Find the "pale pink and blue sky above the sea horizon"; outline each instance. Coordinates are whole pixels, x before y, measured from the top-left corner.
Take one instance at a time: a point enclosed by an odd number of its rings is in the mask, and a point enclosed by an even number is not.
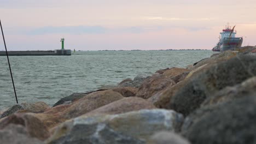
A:
[[[255,0],[0,0],[0,19],[8,50],[212,49],[227,22],[256,45]]]

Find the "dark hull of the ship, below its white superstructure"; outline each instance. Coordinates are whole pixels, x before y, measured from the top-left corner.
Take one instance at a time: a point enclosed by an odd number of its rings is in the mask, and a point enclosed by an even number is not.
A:
[[[243,38],[225,38],[220,45],[220,51],[235,51],[242,46]]]

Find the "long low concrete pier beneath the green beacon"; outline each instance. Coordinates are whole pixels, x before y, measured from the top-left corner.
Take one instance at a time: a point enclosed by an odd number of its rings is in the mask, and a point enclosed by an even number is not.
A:
[[[0,51],[0,56],[6,56],[6,52]],[[8,56],[71,56],[71,50],[8,51]]]

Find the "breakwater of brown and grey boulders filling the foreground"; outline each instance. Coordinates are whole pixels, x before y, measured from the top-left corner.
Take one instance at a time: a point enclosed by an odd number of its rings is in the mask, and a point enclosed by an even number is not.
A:
[[[256,47],[1,112],[1,143],[255,143]],[[14,137],[13,137],[14,136]]]

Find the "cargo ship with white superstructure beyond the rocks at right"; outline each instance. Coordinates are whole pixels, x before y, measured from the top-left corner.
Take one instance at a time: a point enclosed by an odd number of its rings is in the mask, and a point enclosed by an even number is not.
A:
[[[236,38],[235,26],[231,29],[228,25],[220,32],[219,42],[213,47],[212,51],[239,50],[243,43],[243,38]]]

